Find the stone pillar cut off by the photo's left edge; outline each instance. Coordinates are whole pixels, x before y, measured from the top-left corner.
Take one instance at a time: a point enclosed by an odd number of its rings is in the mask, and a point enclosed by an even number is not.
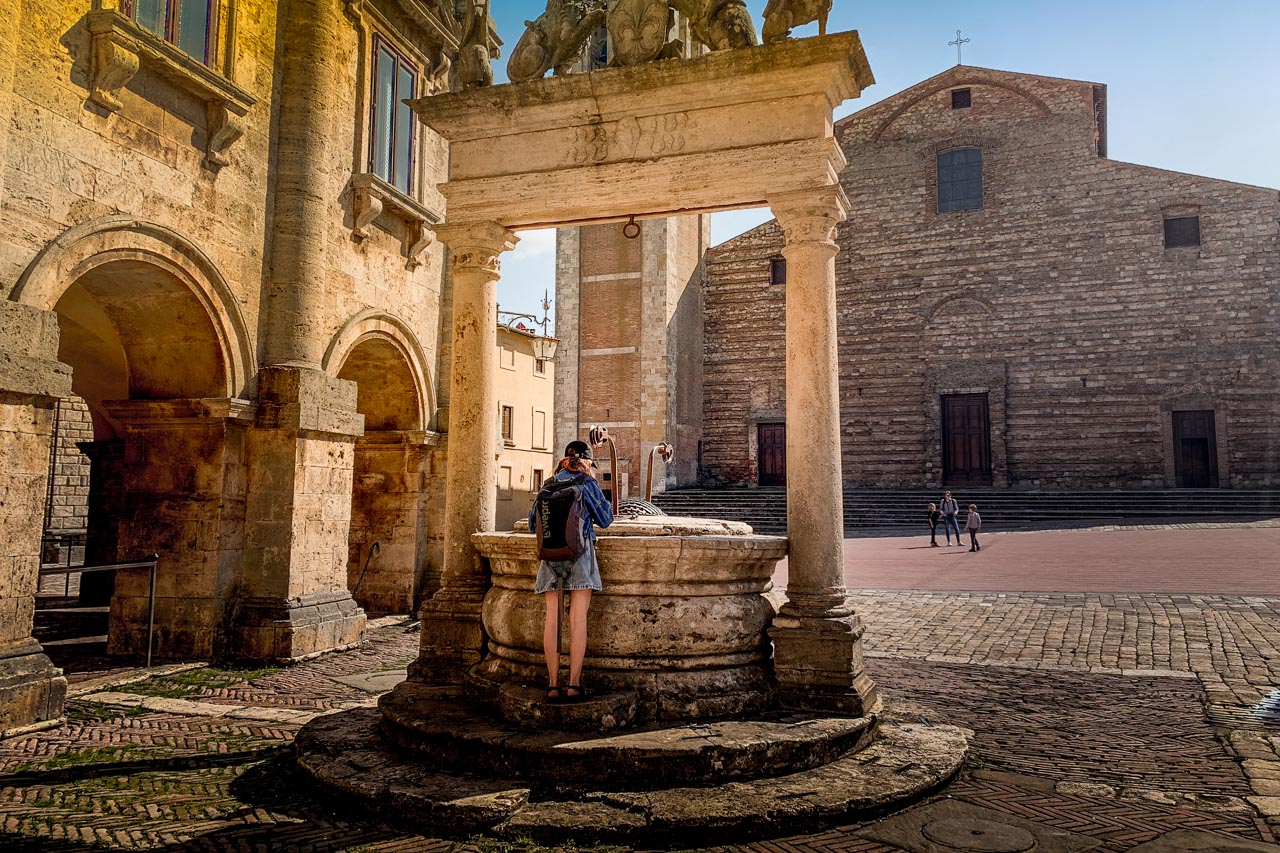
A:
[[[8,26],[8,24],[4,24]],[[3,45],[0,45],[3,46]],[[56,722],[67,679],[31,630],[54,406],[72,392],[58,318],[0,300],[0,736]]]

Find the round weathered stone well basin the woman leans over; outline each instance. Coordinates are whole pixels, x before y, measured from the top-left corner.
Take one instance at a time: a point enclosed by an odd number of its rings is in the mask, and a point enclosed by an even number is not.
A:
[[[521,525],[524,526],[524,525]],[[635,690],[637,721],[704,720],[769,704],[773,605],[764,593],[785,537],[737,521],[620,517],[596,530],[603,592],[588,611],[584,683]],[[544,684],[545,605],[534,594],[534,535],[477,533],[493,588],[484,601],[489,654],[468,676],[497,702],[503,684]],[[562,620],[568,649],[568,619]]]

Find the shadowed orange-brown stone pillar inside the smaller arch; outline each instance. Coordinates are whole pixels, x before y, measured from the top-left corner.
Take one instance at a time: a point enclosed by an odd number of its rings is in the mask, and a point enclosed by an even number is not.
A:
[[[422,502],[433,435],[385,429],[356,439],[347,587],[367,612],[413,612],[426,556]]]

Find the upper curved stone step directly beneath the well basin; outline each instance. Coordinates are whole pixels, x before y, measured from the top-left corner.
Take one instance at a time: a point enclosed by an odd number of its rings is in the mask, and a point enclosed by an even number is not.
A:
[[[442,767],[632,790],[818,767],[868,740],[873,722],[759,715],[746,722],[649,724],[621,734],[535,729],[507,722],[460,688],[411,681],[383,695],[379,710],[393,744]]]

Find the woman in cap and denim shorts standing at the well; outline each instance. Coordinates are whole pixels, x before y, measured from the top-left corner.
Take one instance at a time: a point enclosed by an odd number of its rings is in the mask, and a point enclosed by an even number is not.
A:
[[[557,465],[553,480],[572,480],[581,488],[582,542],[585,549],[576,560],[549,562],[538,566],[534,593],[544,596],[547,622],[543,626],[543,656],[547,658],[547,701],[581,702],[591,697],[582,686],[582,661],[586,657],[586,610],[591,593],[600,592],[600,564],[595,558],[595,526],[613,524],[613,508],[604,497],[600,484],[593,476],[595,460],[586,442],[572,441],[564,447],[564,459]],[[535,529],[538,502],[529,510],[529,529]],[[594,525],[594,526],[593,526]],[[570,594],[568,621],[568,684],[559,683],[559,607],[562,598],[557,583],[563,583]]]

